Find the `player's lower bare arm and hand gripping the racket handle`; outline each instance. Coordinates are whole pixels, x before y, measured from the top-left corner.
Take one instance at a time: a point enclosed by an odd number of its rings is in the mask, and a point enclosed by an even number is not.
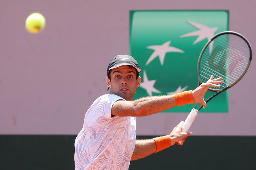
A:
[[[184,122],[180,122],[179,125],[177,125],[175,128],[173,128],[172,132],[169,134],[168,137],[170,137],[170,144],[167,146],[162,146],[162,148],[167,148],[169,146],[174,145],[176,142],[182,140],[182,143],[185,142],[185,138],[190,136],[192,132],[182,132],[182,125]],[[160,137],[161,138],[161,137]],[[157,139],[157,138],[154,138]],[[136,140],[135,143],[135,149],[133,151],[131,160],[138,160],[141,158],[144,158],[148,155],[151,155],[152,153],[155,153],[156,150],[161,150],[157,148],[156,141],[154,139],[145,139],[145,140]],[[161,143],[160,143],[161,144]],[[158,146],[160,145],[158,143]]]

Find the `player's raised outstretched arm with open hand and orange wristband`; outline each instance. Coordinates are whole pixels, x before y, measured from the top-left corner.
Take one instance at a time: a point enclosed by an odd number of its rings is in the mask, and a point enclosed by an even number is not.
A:
[[[186,91],[180,93],[182,95],[166,95],[166,96],[152,96],[144,97],[134,101],[116,101],[112,106],[111,115],[113,116],[147,116],[162,112],[175,106],[181,106],[180,101],[185,101],[183,104],[200,103],[206,107],[204,95],[208,87],[219,87],[222,77],[213,79],[213,75],[206,82],[201,84],[193,91]],[[178,96],[178,97],[177,97]],[[177,101],[176,101],[177,100]],[[179,100],[179,101],[178,101]],[[186,103],[187,101],[187,103]]]

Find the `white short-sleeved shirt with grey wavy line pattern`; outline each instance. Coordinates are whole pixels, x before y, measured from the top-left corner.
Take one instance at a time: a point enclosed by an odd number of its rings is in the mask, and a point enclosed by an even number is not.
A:
[[[135,148],[135,117],[111,117],[114,94],[96,99],[75,140],[76,170],[128,170]]]

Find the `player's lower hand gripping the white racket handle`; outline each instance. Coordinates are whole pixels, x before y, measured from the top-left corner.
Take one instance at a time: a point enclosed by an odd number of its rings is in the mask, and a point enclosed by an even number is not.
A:
[[[182,132],[182,126],[184,124],[184,121],[181,121],[179,125],[177,125],[175,128],[173,128],[172,132],[169,134],[171,137],[171,145],[174,145],[178,141],[182,141],[181,145],[185,142],[185,139],[192,135],[192,132]]]

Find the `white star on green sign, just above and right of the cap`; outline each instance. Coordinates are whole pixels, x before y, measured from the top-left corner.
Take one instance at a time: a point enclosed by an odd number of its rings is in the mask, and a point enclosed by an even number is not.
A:
[[[175,48],[175,47],[169,46],[170,43],[171,43],[171,41],[168,41],[168,42],[163,43],[162,45],[147,46],[147,48],[154,49],[155,51],[149,57],[148,61],[146,62],[146,65],[148,65],[157,56],[159,56],[161,65],[163,65],[165,54],[167,52],[182,52],[182,53],[184,52],[184,51],[182,51],[179,48]]]

